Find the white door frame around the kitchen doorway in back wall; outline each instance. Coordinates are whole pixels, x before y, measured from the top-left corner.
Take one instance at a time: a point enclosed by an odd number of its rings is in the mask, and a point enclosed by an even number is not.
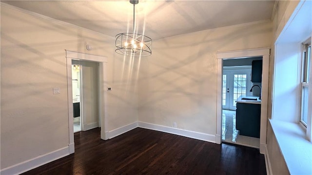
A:
[[[261,88],[261,117],[260,117],[260,153],[266,153],[267,120],[268,120],[268,91],[269,91],[269,58],[270,48],[258,48],[217,53],[217,110],[215,143],[222,142],[222,77],[223,59],[262,57],[262,88]]]

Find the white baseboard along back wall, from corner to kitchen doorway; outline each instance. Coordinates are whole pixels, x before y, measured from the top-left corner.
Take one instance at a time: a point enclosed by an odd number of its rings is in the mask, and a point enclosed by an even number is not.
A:
[[[155,131],[161,131],[164,133],[175,134],[175,135],[179,135],[179,136],[186,136],[186,137],[195,138],[198,140],[203,140],[203,141],[215,143],[215,135],[198,133],[198,132],[188,131],[188,130],[181,130],[178,128],[161,126],[161,125],[146,123],[146,122],[142,122],[142,121],[138,121],[138,127],[150,129],[150,130],[155,130]]]

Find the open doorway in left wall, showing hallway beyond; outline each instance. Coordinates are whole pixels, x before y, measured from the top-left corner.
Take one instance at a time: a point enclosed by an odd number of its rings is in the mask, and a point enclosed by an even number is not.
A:
[[[75,133],[100,127],[98,112],[99,63],[84,60],[72,60],[72,64]]]

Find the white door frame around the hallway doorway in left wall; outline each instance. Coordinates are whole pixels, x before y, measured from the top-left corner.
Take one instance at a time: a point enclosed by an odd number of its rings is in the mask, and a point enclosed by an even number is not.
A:
[[[94,61],[99,63],[98,69],[98,114],[101,127],[101,139],[106,140],[105,131],[107,129],[107,95],[105,89],[106,83],[106,71],[107,71],[107,58],[102,56],[78,53],[73,51],[66,52],[66,67],[67,67],[67,97],[68,97],[68,129],[69,129],[69,154],[75,153],[74,143],[74,123],[73,123],[73,87],[72,87],[72,59],[83,61]]]

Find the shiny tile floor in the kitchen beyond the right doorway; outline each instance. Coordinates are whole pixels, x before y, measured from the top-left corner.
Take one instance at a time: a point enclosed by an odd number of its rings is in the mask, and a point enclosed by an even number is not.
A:
[[[222,141],[259,148],[260,139],[240,136],[236,130],[236,111],[222,110]]]

